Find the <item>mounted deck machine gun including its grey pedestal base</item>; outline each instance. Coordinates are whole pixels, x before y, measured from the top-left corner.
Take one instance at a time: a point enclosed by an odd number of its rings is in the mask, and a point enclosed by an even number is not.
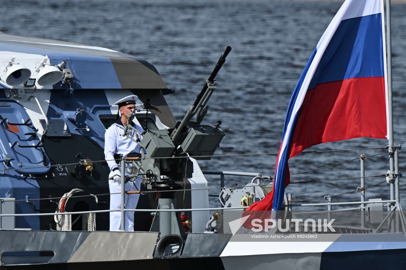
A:
[[[147,186],[147,190],[158,191],[158,209],[176,208],[175,191],[182,189],[181,182],[191,178],[193,173],[193,164],[188,155],[195,159],[210,159],[225,136],[220,128],[221,121],[218,121],[216,126],[201,125],[201,121],[207,113],[207,102],[216,89],[215,77],[230,51],[231,47],[228,46],[192,107],[172,132],[148,129],[141,133],[143,135],[141,140],[134,139],[127,134],[127,129],[133,129],[138,133],[140,131],[130,124],[135,117],[135,110],[130,114],[123,136],[136,141],[143,149],[140,161],[132,161],[136,167],[135,177],[145,176],[143,184]],[[192,120],[194,116],[196,118]],[[183,225],[179,222],[175,212],[155,214],[151,231],[160,231],[160,236],[166,234],[183,236]]]

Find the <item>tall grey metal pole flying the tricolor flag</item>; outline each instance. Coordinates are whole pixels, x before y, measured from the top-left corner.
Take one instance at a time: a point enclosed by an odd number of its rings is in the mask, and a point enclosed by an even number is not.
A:
[[[393,148],[393,110],[392,110],[392,40],[391,40],[391,0],[386,0],[386,33],[387,33],[387,71],[388,71],[388,131],[389,131],[389,170],[390,170],[390,188],[391,200],[395,199],[395,183],[394,183],[394,148]],[[397,191],[398,192],[398,191]],[[389,205],[388,205],[389,206]],[[393,209],[391,204],[390,209]],[[389,208],[389,207],[388,207]],[[395,223],[391,219],[391,232],[395,230]]]

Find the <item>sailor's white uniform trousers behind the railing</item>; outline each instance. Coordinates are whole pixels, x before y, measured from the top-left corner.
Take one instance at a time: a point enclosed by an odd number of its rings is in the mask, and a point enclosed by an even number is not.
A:
[[[128,173],[126,173],[128,175]],[[141,186],[141,179],[136,178],[134,180],[138,190]],[[114,180],[108,180],[108,186],[110,188],[110,193],[119,193],[110,195],[110,210],[121,209],[121,183],[115,182]],[[125,191],[136,191],[134,184],[128,181],[125,184]],[[124,208],[125,209],[135,209],[137,207],[139,194],[125,194]],[[134,231],[134,212],[126,211],[124,212],[124,223],[125,231]],[[121,212],[110,212],[110,231],[121,231]]]

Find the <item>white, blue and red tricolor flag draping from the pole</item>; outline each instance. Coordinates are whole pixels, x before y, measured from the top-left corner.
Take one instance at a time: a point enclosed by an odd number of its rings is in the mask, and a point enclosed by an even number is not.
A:
[[[343,3],[290,99],[273,189],[247,210],[281,209],[289,184],[288,159],[307,147],[356,137],[387,137],[384,32],[382,0]]]

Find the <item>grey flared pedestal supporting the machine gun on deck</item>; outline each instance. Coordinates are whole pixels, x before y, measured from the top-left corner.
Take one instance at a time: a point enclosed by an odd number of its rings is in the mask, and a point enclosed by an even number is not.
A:
[[[182,189],[181,184],[174,182],[154,184],[153,189],[158,191],[158,210],[176,209],[175,191]],[[177,234],[185,238],[185,230],[179,219],[179,215],[174,211],[155,212],[151,229],[149,231],[160,232],[160,238],[168,234]]]

